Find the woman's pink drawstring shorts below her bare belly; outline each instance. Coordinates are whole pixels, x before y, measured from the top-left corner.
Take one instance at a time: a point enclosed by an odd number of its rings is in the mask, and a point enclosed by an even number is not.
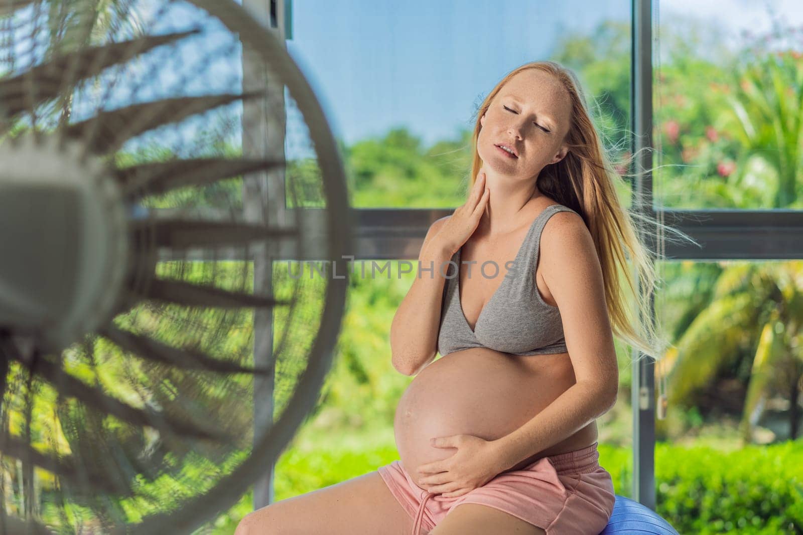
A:
[[[597,443],[574,452],[542,457],[520,470],[504,472],[471,492],[445,498],[410,479],[402,462],[379,467],[393,496],[415,519],[413,535],[434,529],[460,504],[480,504],[512,514],[552,533],[599,535],[613,514],[613,481],[599,465]],[[425,533],[426,533],[425,532]]]

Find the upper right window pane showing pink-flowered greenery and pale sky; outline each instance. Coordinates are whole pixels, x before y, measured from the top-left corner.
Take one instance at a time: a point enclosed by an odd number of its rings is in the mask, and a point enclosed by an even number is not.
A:
[[[656,204],[803,208],[803,4],[659,4]]]

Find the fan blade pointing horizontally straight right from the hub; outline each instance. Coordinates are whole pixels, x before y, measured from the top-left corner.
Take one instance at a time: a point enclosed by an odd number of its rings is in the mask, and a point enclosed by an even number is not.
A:
[[[173,249],[240,245],[296,235],[296,229],[266,228],[263,225],[230,221],[157,218],[132,221],[131,226],[134,232],[145,233],[150,244]]]

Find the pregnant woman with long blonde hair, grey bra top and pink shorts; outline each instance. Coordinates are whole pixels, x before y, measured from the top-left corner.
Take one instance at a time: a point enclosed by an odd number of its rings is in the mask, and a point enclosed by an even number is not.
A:
[[[391,325],[393,367],[415,375],[394,421],[400,460],[259,509],[236,535],[605,528],[614,494],[595,419],[616,402],[613,329],[656,354],[618,277],[634,289],[626,252],[647,286],[654,266],[571,71],[510,72],[473,141],[467,201],[426,233]]]

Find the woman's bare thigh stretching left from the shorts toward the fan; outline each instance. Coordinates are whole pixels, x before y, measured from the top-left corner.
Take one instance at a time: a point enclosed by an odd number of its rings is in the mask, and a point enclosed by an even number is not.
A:
[[[413,519],[379,472],[345,480],[249,513],[234,535],[409,535]]]

